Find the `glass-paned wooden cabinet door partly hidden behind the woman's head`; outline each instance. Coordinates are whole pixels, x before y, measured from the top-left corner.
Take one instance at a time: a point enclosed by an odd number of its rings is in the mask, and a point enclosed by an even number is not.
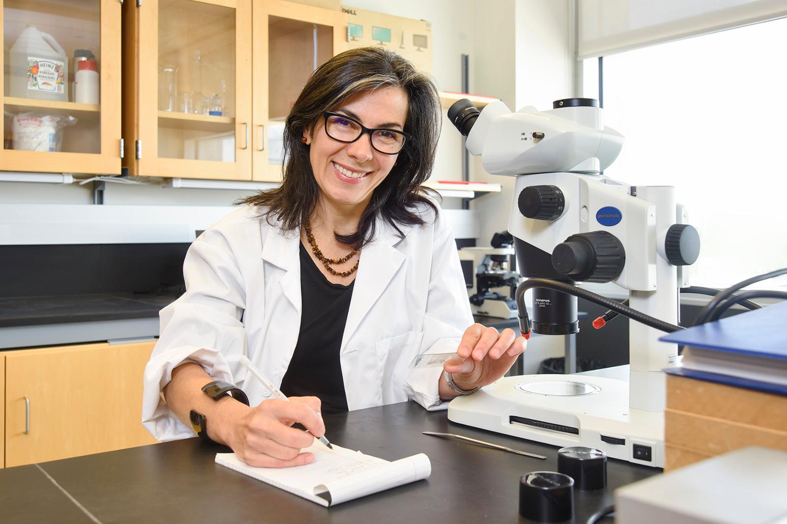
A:
[[[254,2],[254,180],[282,179],[282,134],[309,75],[347,49],[347,15],[284,0]]]

